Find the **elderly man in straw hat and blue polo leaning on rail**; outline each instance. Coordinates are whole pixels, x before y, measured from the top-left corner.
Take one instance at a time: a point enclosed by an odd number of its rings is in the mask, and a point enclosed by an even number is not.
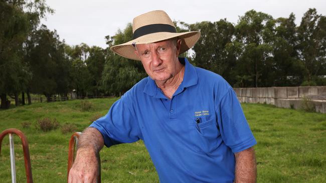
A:
[[[148,77],[84,130],[69,182],[95,182],[104,144],[139,139],[161,182],[256,181],[256,140],[232,87],[178,57],[199,37],[198,31],[177,33],[161,10],[133,19],[133,40],[111,50],[141,60]]]

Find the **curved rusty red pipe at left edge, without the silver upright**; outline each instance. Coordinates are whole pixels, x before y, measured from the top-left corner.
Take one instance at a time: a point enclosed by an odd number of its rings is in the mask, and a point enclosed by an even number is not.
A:
[[[21,138],[21,141],[23,144],[23,151],[24,151],[27,183],[33,183],[32,166],[31,166],[31,158],[30,158],[30,150],[28,147],[28,141],[27,141],[25,134],[21,130],[16,129],[16,128],[9,128],[9,129],[6,129],[3,132],[1,132],[1,134],[0,134],[0,155],[1,155],[2,140],[9,133],[15,133]]]

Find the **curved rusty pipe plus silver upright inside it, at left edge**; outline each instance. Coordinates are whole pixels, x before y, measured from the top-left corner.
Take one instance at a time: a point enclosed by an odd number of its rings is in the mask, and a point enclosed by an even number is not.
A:
[[[24,160],[25,160],[25,171],[26,171],[26,179],[27,183],[33,183],[33,176],[32,176],[32,166],[31,166],[31,158],[30,158],[30,150],[28,147],[28,141],[25,134],[16,128],[9,128],[1,132],[0,134],[0,155],[1,155],[1,146],[2,140],[4,137],[9,134],[9,141],[10,141],[10,162],[11,162],[11,171],[12,171],[12,182],[16,183],[16,165],[15,165],[15,149],[14,149],[14,136],[13,134],[18,135],[21,138],[23,144],[23,151],[24,151]]]

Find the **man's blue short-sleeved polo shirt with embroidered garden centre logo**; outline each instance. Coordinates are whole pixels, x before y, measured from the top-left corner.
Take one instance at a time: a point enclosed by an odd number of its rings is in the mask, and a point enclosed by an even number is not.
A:
[[[233,182],[234,153],[256,144],[240,103],[220,75],[179,60],[172,99],[148,76],[90,126],[107,147],[142,139],[161,182]]]

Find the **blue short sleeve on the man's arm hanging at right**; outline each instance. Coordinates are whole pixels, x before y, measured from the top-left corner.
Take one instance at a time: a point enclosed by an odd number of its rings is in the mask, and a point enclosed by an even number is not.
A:
[[[232,87],[229,87],[227,93],[216,102],[216,115],[221,136],[232,152],[240,152],[255,145],[256,139]]]

